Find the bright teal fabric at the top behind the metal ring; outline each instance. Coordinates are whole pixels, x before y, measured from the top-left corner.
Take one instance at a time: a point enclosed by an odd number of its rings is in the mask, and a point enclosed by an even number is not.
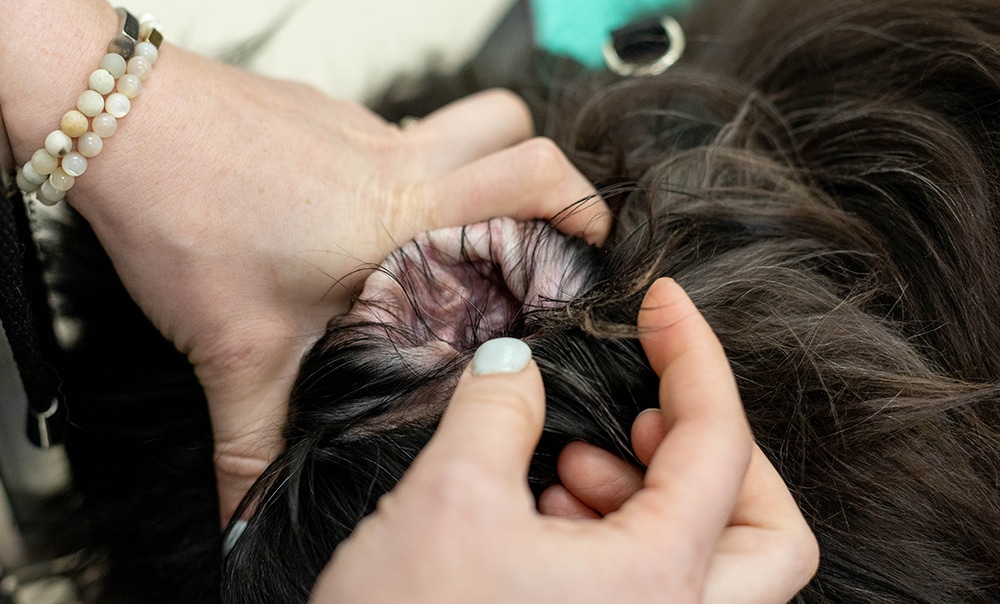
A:
[[[692,0],[532,0],[535,41],[589,67],[604,65],[601,50],[612,31],[649,13],[679,12]]]

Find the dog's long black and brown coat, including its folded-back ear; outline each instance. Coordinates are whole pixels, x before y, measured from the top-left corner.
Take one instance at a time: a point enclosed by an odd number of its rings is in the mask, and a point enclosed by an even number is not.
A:
[[[1000,7],[720,2],[682,23],[688,54],[661,76],[555,62],[531,97],[614,208],[603,250],[520,227],[553,273],[470,257],[468,233],[457,264],[420,240],[383,269],[392,293],[333,319],[246,501],[226,601],[308,598],[486,339],[522,338],[542,370],[536,489],[570,440],[629,458],[657,403],[634,322],[665,275],[819,538],[799,601],[1000,601]]]

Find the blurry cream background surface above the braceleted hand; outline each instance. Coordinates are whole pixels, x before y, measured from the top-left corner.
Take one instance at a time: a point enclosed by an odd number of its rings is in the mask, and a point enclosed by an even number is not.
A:
[[[513,0],[141,0],[167,38],[202,54],[294,14],[255,61],[255,70],[361,99],[400,70],[431,56],[459,62],[474,51]]]

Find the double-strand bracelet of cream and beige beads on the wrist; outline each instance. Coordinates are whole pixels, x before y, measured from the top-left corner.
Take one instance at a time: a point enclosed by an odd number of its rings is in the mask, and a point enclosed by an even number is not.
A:
[[[121,32],[90,74],[89,89],[77,99],[76,109],[63,115],[59,130],[50,132],[45,146],[17,172],[21,191],[35,193],[46,205],[59,203],[76,177],[87,170],[87,160],[101,152],[104,139],[115,133],[118,120],[128,114],[159,56],[163,36],[156,19],[151,15],[136,19],[124,8],[115,10]]]

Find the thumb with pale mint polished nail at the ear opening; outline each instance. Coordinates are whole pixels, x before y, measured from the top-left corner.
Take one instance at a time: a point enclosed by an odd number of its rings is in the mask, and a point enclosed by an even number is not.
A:
[[[545,420],[545,389],[528,345],[497,338],[479,347],[421,453],[425,467],[472,462],[505,484],[524,482]]]

